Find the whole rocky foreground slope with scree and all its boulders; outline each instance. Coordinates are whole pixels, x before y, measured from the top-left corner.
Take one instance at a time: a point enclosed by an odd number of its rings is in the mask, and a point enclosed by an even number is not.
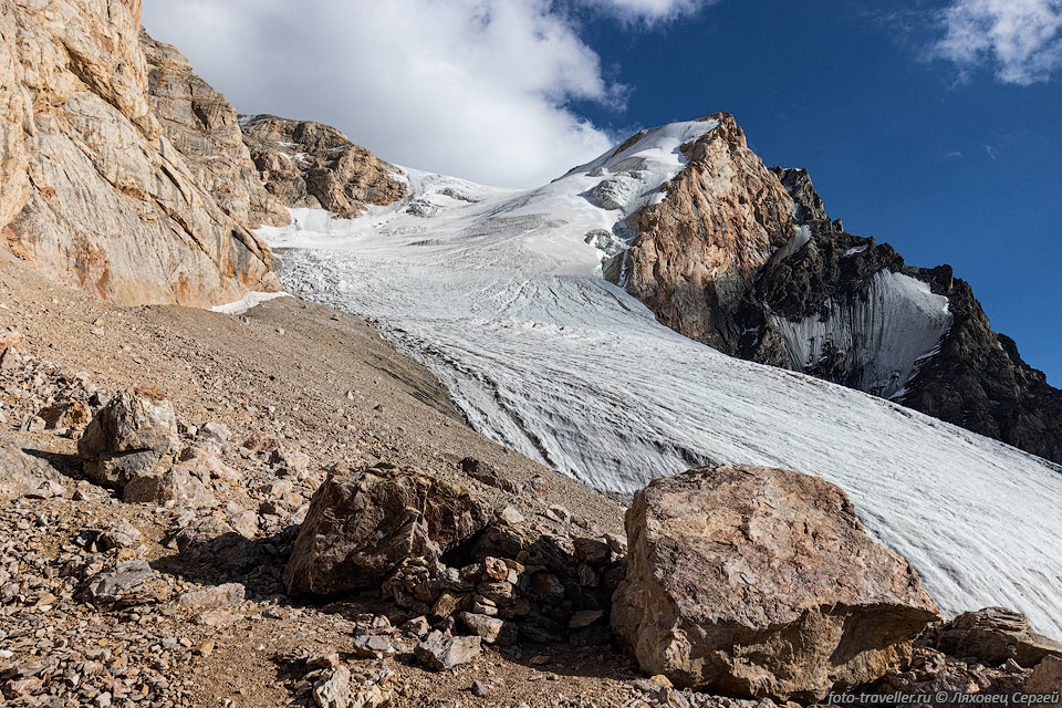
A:
[[[10,261],[0,285],[9,705],[1059,688],[1062,646],[999,608],[938,622],[815,478],[693,470],[639,492],[624,530],[347,315],[122,310]]]

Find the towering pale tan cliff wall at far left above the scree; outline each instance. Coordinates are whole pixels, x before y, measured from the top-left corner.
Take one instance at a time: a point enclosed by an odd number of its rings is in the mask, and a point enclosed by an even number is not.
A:
[[[280,214],[202,164],[217,149],[239,171],[231,108],[146,41],[149,65],[139,33],[138,0],[0,3],[0,244],[124,304],[279,288],[249,228]]]

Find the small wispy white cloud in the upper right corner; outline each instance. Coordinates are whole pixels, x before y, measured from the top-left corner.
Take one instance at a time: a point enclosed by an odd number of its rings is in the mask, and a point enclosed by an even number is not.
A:
[[[999,81],[1027,86],[1062,69],[1062,0],[956,0],[941,18],[934,53],[964,75],[991,64]]]

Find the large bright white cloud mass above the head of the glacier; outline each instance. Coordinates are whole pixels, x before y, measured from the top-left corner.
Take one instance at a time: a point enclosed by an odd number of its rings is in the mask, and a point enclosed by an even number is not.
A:
[[[549,0],[146,0],[144,24],[240,112],[487,184],[541,184],[607,149],[568,104],[623,95]]]

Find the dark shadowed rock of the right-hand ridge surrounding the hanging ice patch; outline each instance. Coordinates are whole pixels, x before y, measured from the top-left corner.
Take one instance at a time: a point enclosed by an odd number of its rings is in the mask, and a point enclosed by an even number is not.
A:
[[[792,171],[782,170],[783,179]],[[802,205],[800,209],[812,211],[818,195],[811,180],[804,179],[799,188],[794,196]],[[1022,361],[1013,340],[992,331],[969,284],[955,278],[949,266],[908,267],[887,243],[840,231],[836,223],[825,218],[804,221],[814,238],[761,270],[739,309],[738,320],[751,334],[735,353],[858,388],[852,352],[837,351],[815,362],[793,361],[779,345],[770,315],[790,321],[816,317],[827,301],[865,299],[875,275],[900,273],[926,283],[935,295],[946,299],[951,323],[892,399],[1062,461],[1062,392]]]

